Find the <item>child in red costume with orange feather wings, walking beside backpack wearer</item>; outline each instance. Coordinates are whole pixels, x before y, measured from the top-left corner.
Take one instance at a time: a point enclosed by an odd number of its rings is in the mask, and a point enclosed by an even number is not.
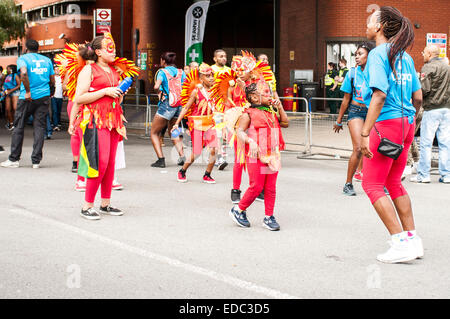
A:
[[[211,172],[216,161],[217,133],[214,129],[213,112],[215,103],[210,97],[211,87],[214,84],[214,73],[212,68],[206,63],[202,63],[198,69],[189,73],[183,84],[181,92],[181,103],[183,110],[175,122],[172,132],[178,129],[182,119],[188,117],[188,126],[192,139],[191,158],[184,163],[178,172],[177,180],[187,182],[186,170],[192,165],[194,160],[202,154],[205,146],[211,149],[208,166],[206,167],[203,182],[215,184],[216,181],[211,177]]]

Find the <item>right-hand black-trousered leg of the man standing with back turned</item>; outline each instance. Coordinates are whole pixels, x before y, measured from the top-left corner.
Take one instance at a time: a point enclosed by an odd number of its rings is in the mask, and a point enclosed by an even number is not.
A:
[[[32,101],[35,108],[33,128],[34,128],[34,143],[33,153],[31,154],[31,161],[33,164],[39,164],[42,160],[42,148],[44,147],[44,136],[46,129],[46,116],[48,116],[48,109],[50,107],[50,98],[44,97]]]

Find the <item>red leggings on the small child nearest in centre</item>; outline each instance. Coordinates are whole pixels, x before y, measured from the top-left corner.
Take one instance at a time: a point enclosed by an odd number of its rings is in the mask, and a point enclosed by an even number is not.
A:
[[[248,177],[250,179],[250,187],[239,202],[239,208],[246,210],[264,190],[264,206],[266,216],[273,215],[275,207],[276,185],[278,172],[272,171],[267,164],[262,163],[259,159],[256,161],[247,161]]]

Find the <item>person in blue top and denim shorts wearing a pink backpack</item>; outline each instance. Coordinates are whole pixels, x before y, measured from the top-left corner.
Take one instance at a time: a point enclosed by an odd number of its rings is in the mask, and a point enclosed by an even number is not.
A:
[[[180,99],[181,86],[186,78],[183,70],[177,69],[175,66],[177,55],[174,52],[165,52],[161,55],[161,66],[156,73],[156,81],[154,89],[159,91],[158,111],[152,121],[150,130],[150,139],[152,140],[153,148],[158,156],[158,159],[153,163],[152,167],[166,167],[164,154],[161,147],[161,132],[167,127],[168,131],[172,130],[173,125],[178,119],[181,112],[181,102],[171,106],[170,96],[175,100]],[[177,79],[178,78],[178,79]],[[169,85],[169,80],[173,82]],[[178,165],[184,165],[186,158],[183,152],[183,143],[180,137],[172,138],[172,142],[178,151],[179,159]]]

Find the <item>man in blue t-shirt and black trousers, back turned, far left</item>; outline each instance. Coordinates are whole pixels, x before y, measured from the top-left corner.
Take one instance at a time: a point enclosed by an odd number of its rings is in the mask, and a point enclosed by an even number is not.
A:
[[[38,54],[39,44],[29,39],[26,44],[26,54],[17,59],[20,70],[20,95],[14,117],[14,131],[11,137],[11,154],[3,167],[19,167],[22,155],[25,122],[33,115],[34,143],[31,162],[33,168],[39,168],[42,160],[42,148],[47,126],[46,116],[50,106],[50,86],[54,88],[55,77],[52,61]]]

